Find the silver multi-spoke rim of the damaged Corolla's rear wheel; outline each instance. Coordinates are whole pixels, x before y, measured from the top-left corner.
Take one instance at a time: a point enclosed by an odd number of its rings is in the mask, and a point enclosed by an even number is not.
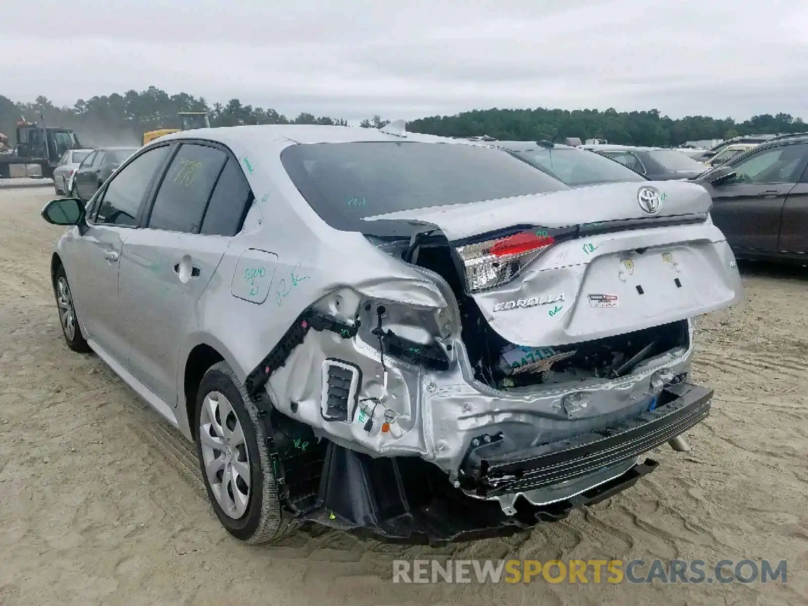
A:
[[[204,473],[219,507],[238,520],[250,503],[250,454],[242,424],[224,393],[204,398],[200,414],[200,446]]]

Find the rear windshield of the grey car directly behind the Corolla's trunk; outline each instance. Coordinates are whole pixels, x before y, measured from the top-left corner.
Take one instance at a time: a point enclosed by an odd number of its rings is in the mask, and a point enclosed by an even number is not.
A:
[[[540,148],[515,154],[572,186],[646,180],[620,162],[583,149]]]

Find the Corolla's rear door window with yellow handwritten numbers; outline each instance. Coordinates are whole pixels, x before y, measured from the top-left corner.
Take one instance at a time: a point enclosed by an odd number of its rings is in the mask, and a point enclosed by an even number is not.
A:
[[[204,209],[226,160],[225,153],[214,147],[182,145],[154,199],[149,228],[199,234]]]

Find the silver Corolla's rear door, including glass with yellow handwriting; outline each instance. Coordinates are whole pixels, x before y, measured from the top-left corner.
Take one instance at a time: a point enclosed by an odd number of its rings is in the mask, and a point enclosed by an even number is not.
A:
[[[184,327],[241,229],[249,200],[250,187],[229,152],[183,143],[162,176],[145,228],[123,247],[120,298],[129,365],[170,406],[177,403]]]

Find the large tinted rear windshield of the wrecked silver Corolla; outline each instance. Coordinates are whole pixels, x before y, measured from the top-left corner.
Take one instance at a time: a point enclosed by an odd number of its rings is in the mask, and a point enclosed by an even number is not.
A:
[[[317,143],[292,145],[280,159],[323,221],[380,236],[402,232],[363,217],[569,189],[506,152],[476,145]]]

